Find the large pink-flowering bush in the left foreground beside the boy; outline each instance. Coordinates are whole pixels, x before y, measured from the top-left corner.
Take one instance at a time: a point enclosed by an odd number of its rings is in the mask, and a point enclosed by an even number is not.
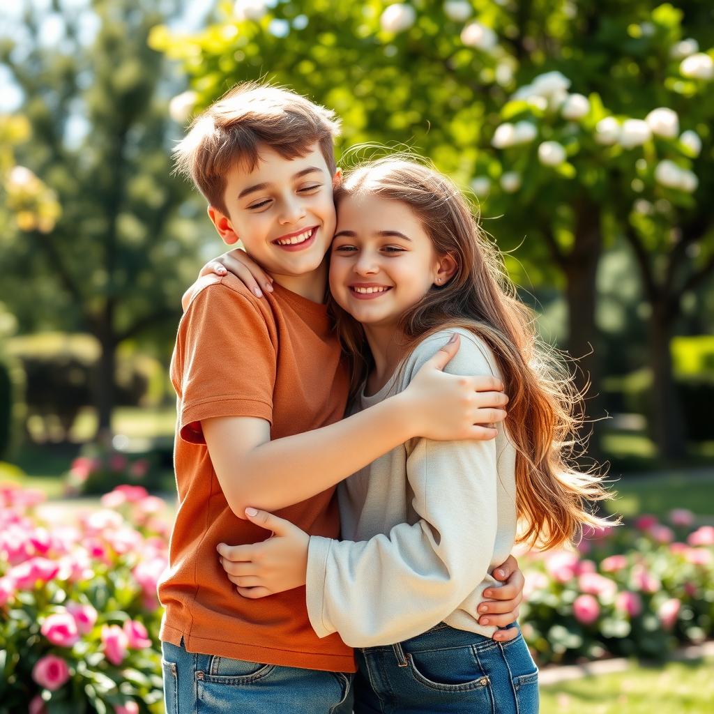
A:
[[[43,498],[0,486],[0,710],[163,712],[163,501],[119,486],[50,526],[34,513]]]

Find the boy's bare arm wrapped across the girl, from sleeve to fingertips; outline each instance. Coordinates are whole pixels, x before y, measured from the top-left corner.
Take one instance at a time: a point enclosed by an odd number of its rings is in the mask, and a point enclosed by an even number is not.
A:
[[[304,501],[414,436],[443,441],[496,436],[495,428],[475,425],[506,417],[492,408],[508,401],[495,393],[501,380],[444,374],[441,370],[458,346],[456,336],[398,395],[313,431],[271,441],[270,425],[261,418],[201,420],[213,468],[233,513],[245,518],[247,506],[276,511]]]

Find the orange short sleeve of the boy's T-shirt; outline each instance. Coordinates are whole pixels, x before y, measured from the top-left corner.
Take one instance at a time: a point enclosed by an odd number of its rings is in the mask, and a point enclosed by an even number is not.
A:
[[[223,283],[193,296],[174,356],[181,438],[205,443],[201,420],[217,416],[272,423],[276,346],[270,327],[258,306]]]

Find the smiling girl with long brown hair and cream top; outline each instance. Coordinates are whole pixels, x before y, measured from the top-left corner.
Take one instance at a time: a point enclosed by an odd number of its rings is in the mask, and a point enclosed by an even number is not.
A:
[[[306,584],[318,635],[361,648],[356,714],[534,713],[538,673],[523,638],[498,643],[473,613],[515,542],[552,548],[603,525],[586,508],[606,496],[600,478],[568,463],[578,395],[448,178],[381,159],[353,171],[336,201],[330,288],[353,356],[353,409],[406,388],[456,332],[447,370],[500,376],[507,428],[493,441],[413,439],[348,478],[342,541],[248,509],[273,538],[219,545],[223,568],[248,598]]]

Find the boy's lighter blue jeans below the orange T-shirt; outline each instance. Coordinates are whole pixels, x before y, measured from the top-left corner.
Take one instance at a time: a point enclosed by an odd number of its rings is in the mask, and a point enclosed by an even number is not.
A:
[[[166,714],[349,714],[353,675],[264,665],[161,643]]]

